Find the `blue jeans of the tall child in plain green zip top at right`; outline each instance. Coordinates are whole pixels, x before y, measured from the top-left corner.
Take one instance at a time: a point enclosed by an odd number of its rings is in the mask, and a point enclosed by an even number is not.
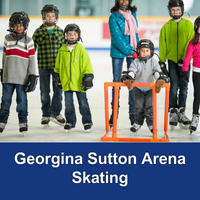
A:
[[[180,75],[177,70],[177,63],[168,60],[168,67],[170,77],[169,108],[185,108],[188,85],[187,87],[184,87],[181,83]],[[190,65],[188,70],[188,77],[190,77]]]

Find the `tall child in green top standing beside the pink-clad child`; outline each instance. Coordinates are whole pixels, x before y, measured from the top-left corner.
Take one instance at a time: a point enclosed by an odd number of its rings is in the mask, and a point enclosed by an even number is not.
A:
[[[182,0],[170,0],[168,9],[172,19],[160,31],[159,54],[161,68],[166,68],[165,61],[168,60],[170,77],[169,124],[174,130],[178,122],[181,128],[188,128],[190,124],[190,120],[185,115],[188,84],[184,86],[180,81],[180,76],[187,46],[194,32],[192,23],[182,18],[184,13]]]

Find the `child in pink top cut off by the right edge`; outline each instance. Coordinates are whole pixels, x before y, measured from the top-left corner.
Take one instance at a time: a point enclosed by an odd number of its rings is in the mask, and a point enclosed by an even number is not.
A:
[[[199,104],[200,104],[200,16],[194,22],[194,38],[189,42],[186,56],[183,62],[183,72],[181,81],[183,85],[187,85],[188,78],[188,65],[190,64],[191,57],[193,56],[193,85],[194,85],[194,101],[193,101],[193,117],[190,124],[190,133],[196,131],[199,123]]]

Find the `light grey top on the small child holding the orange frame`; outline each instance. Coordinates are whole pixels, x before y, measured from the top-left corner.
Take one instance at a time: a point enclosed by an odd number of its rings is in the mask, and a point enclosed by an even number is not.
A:
[[[162,72],[158,61],[155,58],[150,58],[147,62],[136,58],[130,65],[129,71],[133,71],[136,80],[135,83],[155,83],[154,73]],[[140,90],[151,90],[151,87],[138,87]]]

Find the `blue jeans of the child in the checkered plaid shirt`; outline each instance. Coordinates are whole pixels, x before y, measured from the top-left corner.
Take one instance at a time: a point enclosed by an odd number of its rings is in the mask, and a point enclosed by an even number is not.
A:
[[[62,89],[58,89],[52,80],[53,98],[50,98],[50,76],[53,69],[39,69],[40,97],[42,103],[42,116],[58,116],[62,110]]]

